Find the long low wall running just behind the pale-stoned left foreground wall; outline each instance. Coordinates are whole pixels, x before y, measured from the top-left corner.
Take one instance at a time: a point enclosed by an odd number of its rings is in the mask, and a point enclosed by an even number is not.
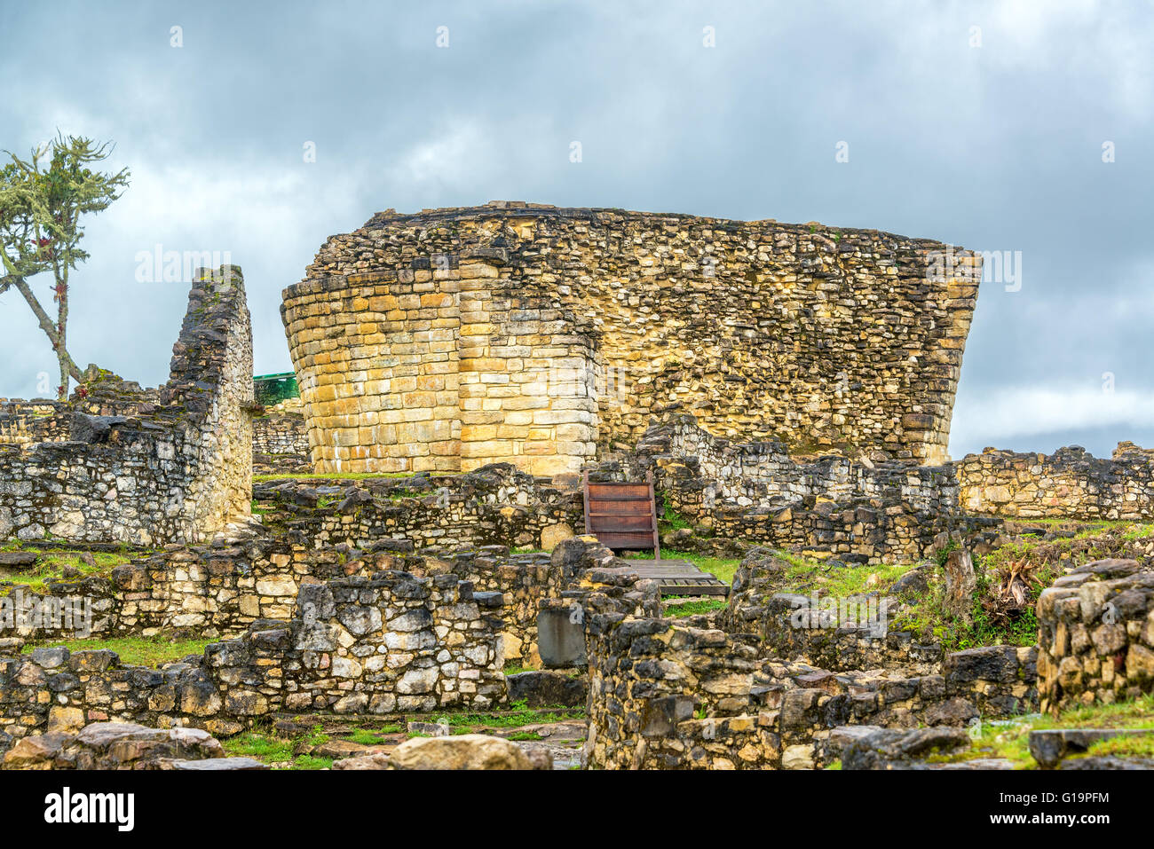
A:
[[[83,607],[68,606],[68,600],[90,604],[89,628],[95,637],[157,632],[237,637],[257,619],[290,619],[298,593],[310,584],[400,570],[429,578],[451,574],[477,592],[499,593],[504,622],[502,660],[540,666],[538,606],[561,598],[572,579],[564,578],[562,566],[554,565],[548,554],[510,554],[502,546],[418,554],[411,544],[389,548],[317,550],[283,539],[173,547],[118,566],[111,580],[55,581],[44,596],[13,589],[0,598],[0,638],[51,641],[70,637],[82,626]],[[58,611],[54,617],[53,610]]]

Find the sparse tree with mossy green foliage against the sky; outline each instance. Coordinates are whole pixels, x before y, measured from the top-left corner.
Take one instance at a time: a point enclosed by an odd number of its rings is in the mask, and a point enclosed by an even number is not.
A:
[[[60,365],[57,392],[68,396],[68,381],[81,382],[81,371],[68,354],[68,273],[88,258],[80,241],[81,216],[107,209],[128,186],[128,168],[102,173],[90,165],[107,159],[112,144],[81,136],[57,135],[32,150],[29,159],[3,151],[12,159],[0,168],[0,294],[15,287],[28,302],[52,343]],[[47,163],[47,165],[45,165]],[[53,321],[32,292],[28,279],[51,272]]]

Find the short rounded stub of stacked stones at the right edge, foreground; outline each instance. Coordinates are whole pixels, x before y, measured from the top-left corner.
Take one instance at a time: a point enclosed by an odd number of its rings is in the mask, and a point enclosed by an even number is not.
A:
[[[1154,692],[1154,572],[1137,561],[1076,568],[1037,599],[1043,711]]]

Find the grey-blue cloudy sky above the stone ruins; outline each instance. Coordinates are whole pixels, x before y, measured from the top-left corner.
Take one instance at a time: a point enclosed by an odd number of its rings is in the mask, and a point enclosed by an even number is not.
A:
[[[981,287],[954,457],[1154,445],[1148,2],[6,0],[0,33],[0,148],[59,128],[133,172],[73,277],[82,367],[167,378],[187,286],[137,281],[157,246],[243,266],[271,373],[280,290],[390,206],[819,220],[1020,256]],[[40,373],[9,291],[0,396]]]

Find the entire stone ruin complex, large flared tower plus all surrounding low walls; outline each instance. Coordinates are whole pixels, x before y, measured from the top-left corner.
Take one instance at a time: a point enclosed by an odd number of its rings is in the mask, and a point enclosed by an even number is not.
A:
[[[786,592],[771,548],[881,566],[949,543],[957,565],[1007,521],[1154,519],[1154,452],[1130,443],[946,459],[976,283],[928,273],[944,248],[617,210],[382,213],[285,292],[302,399],[263,414],[240,271],[204,272],[164,386],[95,370],[67,404],[0,403],[0,541],[137,546],[28,595],[90,600],[96,637],[218,641],[150,669],[20,653],[59,623],[6,629],[6,768],[218,768],[208,735],[272,716],[520,700],[584,704],[591,768],[894,768],[975,721],[1154,691],[1148,559],[1067,570],[1036,647],[946,652]],[[292,478],[314,468],[332,476]],[[652,473],[690,526],[665,544],[744,555],[727,607],[664,617],[655,583],[578,536],[579,471]]]

